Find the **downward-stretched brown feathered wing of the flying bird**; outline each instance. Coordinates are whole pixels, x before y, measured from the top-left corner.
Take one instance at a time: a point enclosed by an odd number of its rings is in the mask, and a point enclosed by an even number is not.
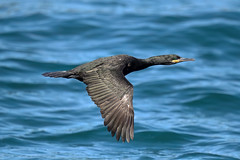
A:
[[[87,84],[88,94],[100,107],[104,125],[116,139],[133,140],[134,111],[133,86],[122,72],[95,68],[87,71],[83,82]]]

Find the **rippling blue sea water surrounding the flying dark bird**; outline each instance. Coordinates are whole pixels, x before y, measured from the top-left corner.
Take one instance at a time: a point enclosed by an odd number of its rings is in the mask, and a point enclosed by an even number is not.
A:
[[[195,58],[127,75],[135,137],[86,85],[41,74],[117,54]],[[240,159],[239,0],[1,0],[1,160]]]

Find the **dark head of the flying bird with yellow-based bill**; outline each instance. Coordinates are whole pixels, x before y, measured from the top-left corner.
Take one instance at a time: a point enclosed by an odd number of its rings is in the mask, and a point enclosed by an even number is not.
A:
[[[182,58],[176,54],[154,56],[147,59],[151,65],[172,65],[180,62],[194,61],[193,58]]]

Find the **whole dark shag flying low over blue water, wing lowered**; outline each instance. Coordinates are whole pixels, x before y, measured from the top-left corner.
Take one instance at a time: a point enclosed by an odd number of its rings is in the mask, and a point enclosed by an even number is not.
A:
[[[178,55],[160,55],[138,59],[128,55],[99,58],[68,71],[47,72],[54,78],[74,78],[84,82],[88,95],[100,108],[104,125],[119,141],[129,142],[134,137],[133,85],[125,75],[153,65],[172,65],[194,59]]]

